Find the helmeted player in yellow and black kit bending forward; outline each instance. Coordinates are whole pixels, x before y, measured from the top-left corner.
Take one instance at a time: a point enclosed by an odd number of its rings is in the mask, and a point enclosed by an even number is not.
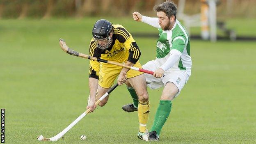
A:
[[[141,55],[139,47],[122,25],[112,25],[109,21],[101,19],[94,24],[92,35],[93,38],[89,45],[90,56],[142,68],[138,61]],[[142,72],[91,60],[89,68],[90,96],[87,109],[91,108],[91,112],[95,110],[95,102],[110,89],[118,75],[118,84],[126,83],[130,94],[135,99],[139,99],[138,107],[131,105],[131,108],[138,109],[138,137],[146,139],[146,123],[150,105],[146,81]],[[107,100],[108,96],[98,105],[104,106]]]

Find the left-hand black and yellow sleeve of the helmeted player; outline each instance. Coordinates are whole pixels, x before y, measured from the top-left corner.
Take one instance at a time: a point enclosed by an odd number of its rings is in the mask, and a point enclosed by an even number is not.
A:
[[[90,42],[89,45],[89,55],[92,57],[99,57],[97,55],[97,51],[96,51],[96,42],[93,41],[93,39]],[[95,60],[90,60],[90,64],[89,64],[89,78],[96,78],[98,79],[98,75],[100,72],[100,63],[98,61]]]

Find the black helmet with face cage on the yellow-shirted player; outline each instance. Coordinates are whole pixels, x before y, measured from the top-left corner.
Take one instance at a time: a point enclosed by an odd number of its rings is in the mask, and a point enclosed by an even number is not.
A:
[[[106,49],[112,43],[112,38],[110,38],[110,32],[112,31],[112,24],[105,20],[101,19],[96,21],[94,28],[92,29],[92,36],[97,42],[98,48]],[[98,41],[106,41],[106,44],[100,45]]]

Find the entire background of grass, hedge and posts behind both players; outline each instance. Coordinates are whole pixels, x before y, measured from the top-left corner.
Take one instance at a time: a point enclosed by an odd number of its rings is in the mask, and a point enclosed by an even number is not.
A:
[[[39,143],[76,119],[87,106],[88,54],[98,19],[123,25],[137,42],[141,64],[155,59],[158,29],[132,18],[155,17],[165,0],[0,0],[0,107],[5,108],[6,143]],[[256,0],[174,0],[177,19],[190,33],[192,75],[174,99],[161,142],[256,143]],[[150,90],[150,128],[162,88]],[[137,113],[125,86],[104,107],[88,114],[56,143],[143,143]],[[100,138],[99,138],[100,137]]]

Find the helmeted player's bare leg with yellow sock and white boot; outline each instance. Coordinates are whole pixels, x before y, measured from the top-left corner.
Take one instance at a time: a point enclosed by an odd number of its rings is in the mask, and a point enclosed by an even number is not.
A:
[[[129,78],[128,81],[135,89],[138,98],[138,117],[139,117],[139,133],[138,137],[143,140],[147,140],[148,132],[146,130],[146,124],[149,120],[149,95],[146,91],[146,80],[144,74],[137,75],[133,78]]]

